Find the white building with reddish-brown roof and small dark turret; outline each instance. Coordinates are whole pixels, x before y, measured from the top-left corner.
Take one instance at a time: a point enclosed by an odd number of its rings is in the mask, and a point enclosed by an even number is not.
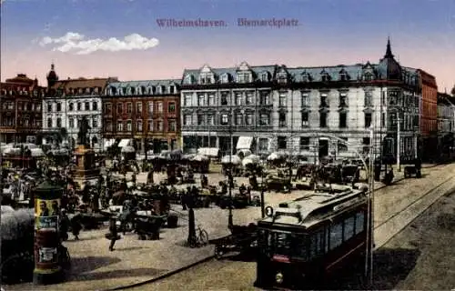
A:
[[[90,146],[102,149],[102,103],[101,95],[106,85],[117,82],[116,78],[68,78],[58,80],[54,65],[47,75],[47,94],[43,100],[43,131],[60,132],[66,128],[66,137],[71,146],[76,146],[80,120],[83,116],[90,126]],[[52,135],[47,135],[45,143],[52,142]]]

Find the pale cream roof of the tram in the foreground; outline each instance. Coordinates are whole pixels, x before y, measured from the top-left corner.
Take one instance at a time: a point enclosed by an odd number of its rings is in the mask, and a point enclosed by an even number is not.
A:
[[[366,197],[365,191],[352,189],[349,186],[338,194],[312,193],[273,208],[272,216],[261,219],[260,223],[308,228],[329,216],[358,205]]]

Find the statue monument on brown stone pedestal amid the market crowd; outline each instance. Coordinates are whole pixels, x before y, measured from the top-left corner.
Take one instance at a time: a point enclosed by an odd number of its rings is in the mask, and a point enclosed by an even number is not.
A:
[[[96,180],[99,177],[99,168],[95,165],[95,151],[90,148],[89,139],[87,138],[88,120],[86,116],[81,119],[80,130],[77,134],[76,172],[75,181],[83,186],[86,182]]]

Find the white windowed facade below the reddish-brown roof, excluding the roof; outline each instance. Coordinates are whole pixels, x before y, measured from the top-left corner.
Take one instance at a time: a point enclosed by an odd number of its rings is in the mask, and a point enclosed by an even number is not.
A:
[[[88,137],[90,146],[101,149],[102,103],[101,97],[94,95],[75,95],[45,98],[43,101],[43,131],[58,132],[66,128],[67,142],[76,146],[79,122],[86,116],[90,130]],[[51,141],[43,139],[44,144]]]

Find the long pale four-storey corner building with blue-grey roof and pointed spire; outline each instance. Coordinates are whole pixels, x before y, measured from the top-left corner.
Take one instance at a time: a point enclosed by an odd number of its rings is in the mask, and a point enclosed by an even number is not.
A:
[[[417,155],[419,75],[399,65],[389,42],[379,64],[185,70],[181,106],[185,148],[217,146],[227,153],[232,131],[234,152],[343,157],[368,151],[373,128],[378,154],[397,156],[400,136],[401,159]]]

